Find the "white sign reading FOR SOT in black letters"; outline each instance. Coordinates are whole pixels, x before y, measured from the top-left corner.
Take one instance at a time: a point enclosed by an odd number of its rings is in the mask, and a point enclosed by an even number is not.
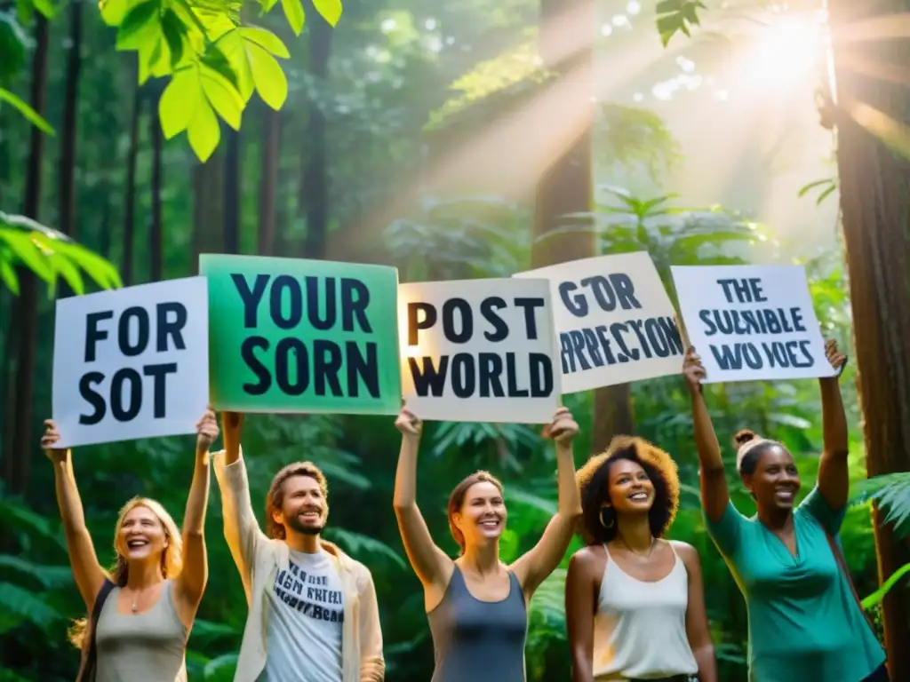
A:
[[[56,302],[60,447],[196,433],[208,403],[205,277]]]

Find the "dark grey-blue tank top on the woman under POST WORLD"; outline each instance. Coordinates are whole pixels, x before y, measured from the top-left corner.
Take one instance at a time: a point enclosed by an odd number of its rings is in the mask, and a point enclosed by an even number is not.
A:
[[[509,571],[509,596],[480,601],[458,565],[440,605],[427,614],[436,668],[431,682],[524,682],[528,612],[518,578]]]

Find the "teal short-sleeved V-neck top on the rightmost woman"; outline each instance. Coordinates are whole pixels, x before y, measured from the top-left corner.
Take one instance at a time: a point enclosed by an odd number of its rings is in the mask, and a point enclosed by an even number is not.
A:
[[[794,557],[733,503],[716,524],[705,515],[749,611],[752,682],[860,682],[885,662],[825,536],[843,520],[815,487],[794,510]]]

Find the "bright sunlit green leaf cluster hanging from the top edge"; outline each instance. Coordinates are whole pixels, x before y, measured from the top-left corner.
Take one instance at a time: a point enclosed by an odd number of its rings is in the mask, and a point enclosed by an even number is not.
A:
[[[275,0],[258,0],[267,14]],[[101,0],[101,17],[116,26],[116,48],[136,52],[138,79],[170,77],[158,102],[167,139],[186,131],[200,161],[214,153],[221,138],[220,117],[239,130],[255,91],[276,111],[288,97],[288,77],[279,59],[290,53],[262,26],[241,21],[240,0]],[[341,16],[340,0],[314,0],[329,25]],[[281,0],[294,35],[303,30],[301,0]]]

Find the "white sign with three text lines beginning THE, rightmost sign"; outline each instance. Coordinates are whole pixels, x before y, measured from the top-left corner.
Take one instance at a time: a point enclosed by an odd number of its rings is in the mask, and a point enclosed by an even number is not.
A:
[[[834,376],[803,266],[672,266],[705,383]]]

